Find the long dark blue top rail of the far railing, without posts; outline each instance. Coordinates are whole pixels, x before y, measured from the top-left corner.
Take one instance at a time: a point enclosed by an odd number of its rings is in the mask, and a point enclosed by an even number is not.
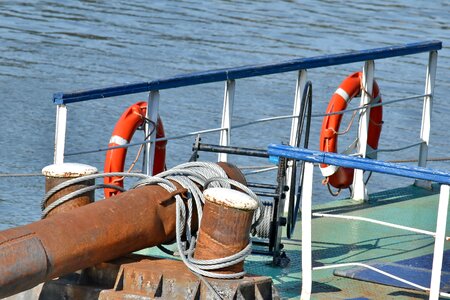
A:
[[[138,82],[100,89],[78,91],[72,93],[55,93],[55,104],[67,104],[113,96],[121,96],[182,86],[197,85],[225,80],[234,80],[262,75],[284,73],[302,69],[342,65],[367,60],[376,60],[442,49],[441,41],[424,41],[392,47],[375,48],[350,53],[323,55],[309,58],[293,59],[281,63],[251,65],[238,68],[220,69],[206,72],[184,74],[150,82]]]

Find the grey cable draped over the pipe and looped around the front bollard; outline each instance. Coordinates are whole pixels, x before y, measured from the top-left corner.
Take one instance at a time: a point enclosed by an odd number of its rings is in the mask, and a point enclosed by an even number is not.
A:
[[[178,255],[180,256],[181,260],[211,289],[214,295],[218,298],[220,298],[220,295],[204,278],[202,278],[202,276],[219,279],[231,279],[231,278],[239,278],[245,274],[245,271],[233,274],[221,274],[214,272],[214,270],[219,270],[242,262],[247,257],[247,255],[251,253],[251,242],[249,242],[249,244],[240,252],[228,257],[211,260],[199,260],[193,258],[197,234],[196,232],[193,232],[192,229],[192,216],[194,209],[193,204],[195,203],[199,224],[201,224],[202,207],[203,204],[205,203],[203,193],[200,190],[199,186],[203,187],[203,189],[206,189],[208,187],[230,188],[231,186],[240,189],[241,191],[247,193],[250,197],[252,197],[258,202],[258,209],[255,212],[255,217],[253,219],[253,224],[251,227],[253,234],[255,234],[257,226],[263,221],[264,209],[263,204],[259,200],[258,196],[245,185],[235,180],[229,179],[225,171],[220,166],[218,166],[215,163],[208,163],[208,162],[189,162],[179,165],[171,170],[159,173],[155,176],[147,176],[145,174],[139,173],[115,172],[106,174],[93,174],[70,179],[52,188],[44,196],[41,202],[41,208],[43,210],[42,217],[44,218],[55,207],[88,191],[104,187],[115,188],[120,191],[123,191],[123,188],[117,187],[115,185],[97,184],[69,193],[66,196],[56,200],[49,206],[45,207],[48,199],[58,191],[82,181],[100,178],[104,176],[126,176],[139,178],[140,180],[136,182],[136,184],[134,184],[131,187],[131,189],[135,189],[145,185],[157,184],[166,189],[168,192],[172,193],[177,189],[174,182],[180,184],[183,188],[185,188],[188,191],[186,200],[183,200],[183,198],[179,194],[175,195],[176,244],[178,249]],[[183,234],[185,234],[186,241],[183,241]]]

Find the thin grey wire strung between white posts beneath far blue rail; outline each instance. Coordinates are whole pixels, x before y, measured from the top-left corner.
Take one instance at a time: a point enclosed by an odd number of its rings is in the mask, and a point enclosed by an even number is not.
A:
[[[363,109],[366,109],[367,107],[371,107],[372,108],[372,107],[377,107],[377,106],[390,105],[390,104],[395,104],[395,103],[399,103],[399,102],[420,99],[420,98],[423,98],[423,97],[426,97],[426,96],[431,96],[431,95],[430,94],[412,95],[412,96],[409,96],[409,97],[396,98],[396,99],[393,99],[393,100],[388,100],[388,101],[383,101],[383,102],[379,102],[379,103],[368,104],[368,105],[365,105],[365,106],[362,106],[362,107],[358,106],[358,107],[354,107],[354,108],[348,108],[348,109],[345,109],[345,110],[342,110],[342,111],[338,111],[338,112],[333,112],[333,113],[311,114],[311,118],[319,118],[319,117],[324,117],[324,116],[345,114],[347,112],[363,110]],[[232,125],[230,128],[231,129],[237,129],[237,128],[243,128],[243,127],[247,127],[247,126],[251,126],[251,125],[255,125],[255,124],[259,124],[259,123],[279,121],[279,120],[286,120],[286,119],[294,119],[294,118],[298,118],[298,115],[273,116],[273,117],[256,119],[256,120],[253,120],[253,121],[250,121],[250,122],[241,123],[241,124],[235,124],[235,125]],[[193,132],[180,134],[180,135],[175,135],[175,136],[167,136],[167,137],[163,137],[163,138],[156,138],[155,142],[177,140],[177,139],[197,136],[197,135],[200,135],[200,134],[208,134],[208,133],[220,132],[220,131],[222,131],[224,129],[226,129],[226,128],[224,128],[224,127],[208,128],[208,129],[204,129],[204,130],[193,131]],[[90,153],[96,153],[96,152],[105,152],[105,151],[113,150],[113,149],[128,148],[128,147],[133,147],[133,146],[140,146],[140,145],[147,144],[147,143],[150,143],[150,142],[151,142],[150,140],[144,140],[144,141],[141,141],[141,142],[127,143],[127,144],[118,145],[118,146],[101,147],[101,148],[97,148],[97,149],[88,149],[88,150],[81,150],[81,151],[76,151],[76,152],[68,152],[68,153],[65,153],[64,155],[65,156],[75,156],[75,155],[90,154]],[[397,151],[405,150],[405,149],[408,149],[408,148],[411,148],[411,147],[419,146],[421,143],[422,142],[417,142],[417,143],[413,143],[413,144],[406,145],[406,146],[403,146],[403,147],[398,147],[398,148],[395,148],[395,149],[392,148],[392,149],[371,150],[370,152],[368,152],[368,155],[373,154],[373,153],[378,153],[378,152],[397,152]]]

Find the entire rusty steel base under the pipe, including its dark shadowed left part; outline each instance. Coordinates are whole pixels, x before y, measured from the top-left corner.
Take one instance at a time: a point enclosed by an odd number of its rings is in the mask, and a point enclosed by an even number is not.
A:
[[[83,270],[81,275],[48,281],[33,299],[214,299],[205,282],[180,261],[133,254],[102,263],[88,273]],[[279,299],[269,277],[207,280],[223,299]]]

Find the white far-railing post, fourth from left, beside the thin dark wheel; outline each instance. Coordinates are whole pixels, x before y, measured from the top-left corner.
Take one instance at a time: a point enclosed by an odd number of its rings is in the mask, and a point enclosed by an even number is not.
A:
[[[301,102],[302,102],[302,98],[303,98],[303,90],[305,89],[306,80],[307,80],[307,71],[306,70],[298,71],[297,84],[295,86],[294,109],[292,112],[292,115],[294,115],[294,116],[298,116],[300,113]],[[291,137],[289,139],[290,146],[295,146],[298,135],[300,134],[299,132],[297,132],[298,122],[299,122],[298,118],[292,118]],[[294,170],[292,170],[292,161],[289,160],[288,167],[286,170],[286,183],[287,183],[287,186],[289,187],[289,190],[295,189],[295,184],[294,184],[294,186],[291,186],[293,171]],[[284,203],[284,212],[287,213],[288,210],[289,210],[289,199],[288,199],[288,201],[286,201]]]

